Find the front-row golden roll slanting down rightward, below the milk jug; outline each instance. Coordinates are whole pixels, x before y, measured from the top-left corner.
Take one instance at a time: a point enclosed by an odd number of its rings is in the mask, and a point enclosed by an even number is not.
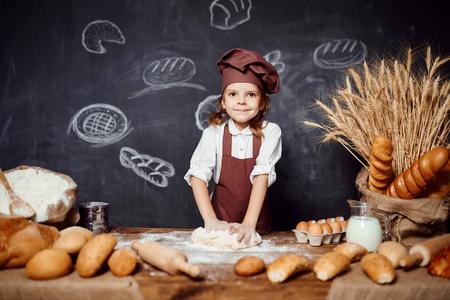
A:
[[[361,266],[366,275],[378,284],[391,283],[395,279],[394,267],[384,255],[369,253],[361,259]]]

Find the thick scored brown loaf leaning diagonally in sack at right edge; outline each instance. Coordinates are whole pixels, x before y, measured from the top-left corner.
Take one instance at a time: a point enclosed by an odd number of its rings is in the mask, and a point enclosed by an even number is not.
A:
[[[449,150],[445,147],[437,147],[426,152],[410,168],[395,178],[385,194],[401,199],[416,198],[448,161]]]

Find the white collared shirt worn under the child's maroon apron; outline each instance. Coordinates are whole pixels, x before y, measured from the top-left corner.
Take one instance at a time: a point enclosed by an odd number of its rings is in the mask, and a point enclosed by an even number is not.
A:
[[[281,129],[277,124],[267,121],[264,121],[263,127],[264,138],[261,142],[259,155],[256,158],[256,165],[250,174],[250,181],[253,183],[253,178],[256,175],[267,174],[269,175],[268,186],[270,186],[275,182],[275,164],[281,157]],[[230,119],[228,128],[232,135],[231,156],[238,159],[252,158],[253,132],[250,127],[239,131],[233,119]],[[191,184],[191,176],[200,178],[208,184],[214,175],[214,182],[219,182],[224,129],[225,124],[220,126],[210,125],[203,131],[202,138],[192,155],[190,168],[184,176],[189,185]]]

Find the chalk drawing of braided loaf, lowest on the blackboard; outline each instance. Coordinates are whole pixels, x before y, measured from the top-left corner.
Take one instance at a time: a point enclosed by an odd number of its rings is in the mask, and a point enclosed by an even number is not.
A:
[[[175,169],[171,163],[147,154],[140,154],[130,147],[120,149],[119,160],[122,166],[133,170],[136,175],[158,187],[168,186],[168,177],[175,175]]]

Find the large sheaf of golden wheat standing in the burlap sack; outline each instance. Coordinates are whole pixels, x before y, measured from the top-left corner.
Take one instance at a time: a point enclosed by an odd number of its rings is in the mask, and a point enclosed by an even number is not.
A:
[[[388,137],[394,147],[392,171],[401,174],[425,152],[449,147],[450,81],[441,71],[449,60],[430,46],[406,47],[397,57],[351,67],[331,101],[315,101],[324,122],[303,124],[321,129],[321,142],[339,142],[365,167],[373,139]]]

